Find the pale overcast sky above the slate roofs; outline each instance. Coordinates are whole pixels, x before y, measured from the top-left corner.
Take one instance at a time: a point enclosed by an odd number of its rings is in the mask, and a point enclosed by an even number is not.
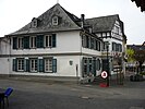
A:
[[[25,26],[57,2],[70,13],[86,19],[119,14],[128,45],[145,41],[145,12],[131,0],[0,0],[0,37]]]

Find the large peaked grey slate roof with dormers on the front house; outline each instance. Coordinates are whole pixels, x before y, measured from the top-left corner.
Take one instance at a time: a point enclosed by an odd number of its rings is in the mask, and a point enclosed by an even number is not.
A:
[[[60,25],[52,25],[52,16],[59,16],[61,19]],[[49,32],[60,32],[60,31],[72,31],[81,29],[80,26],[75,23],[80,19],[75,15],[69,13],[64,10],[59,3],[53,5],[51,9],[46,11],[38,17],[38,27],[32,27],[32,22],[22,27],[21,29],[10,34],[11,35],[22,35],[22,34],[34,34],[34,33],[49,33]]]

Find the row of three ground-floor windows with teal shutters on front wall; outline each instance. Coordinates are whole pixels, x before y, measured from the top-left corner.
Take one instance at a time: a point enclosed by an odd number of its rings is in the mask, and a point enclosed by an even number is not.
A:
[[[57,59],[53,58],[16,58],[13,59],[13,71],[32,73],[56,73]]]

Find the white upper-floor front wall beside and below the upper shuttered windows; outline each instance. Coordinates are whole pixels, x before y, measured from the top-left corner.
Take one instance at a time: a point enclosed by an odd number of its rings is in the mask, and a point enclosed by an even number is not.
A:
[[[12,55],[38,55],[38,53],[70,53],[80,52],[80,32],[63,32],[57,34],[57,47],[36,49],[12,49]],[[12,47],[11,47],[12,48]]]

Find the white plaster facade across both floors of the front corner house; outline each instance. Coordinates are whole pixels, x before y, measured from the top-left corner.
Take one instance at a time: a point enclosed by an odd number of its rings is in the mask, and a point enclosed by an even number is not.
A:
[[[101,60],[101,50],[97,51],[82,47],[82,36],[80,31],[61,32],[56,33],[56,47],[55,48],[35,48],[35,49],[13,49],[13,37],[4,37],[10,43],[1,41],[1,69],[0,74],[11,75],[41,75],[41,76],[72,76],[83,78],[82,74],[82,59],[93,58]],[[19,36],[19,37],[23,37]],[[24,36],[25,37],[25,36]],[[3,38],[3,39],[4,39]],[[3,47],[5,49],[3,50]],[[11,46],[9,48],[9,46]],[[13,71],[13,59],[57,59],[57,72],[44,73],[44,72],[26,72],[26,71]],[[101,62],[101,61],[100,61]],[[4,64],[3,64],[4,63]],[[19,66],[19,64],[16,64]],[[8,69],[5,69],[8,68]],[[101,69],[96,71],[96,75],[99,75]],[[87,76],[85,76],[87,77]]]

